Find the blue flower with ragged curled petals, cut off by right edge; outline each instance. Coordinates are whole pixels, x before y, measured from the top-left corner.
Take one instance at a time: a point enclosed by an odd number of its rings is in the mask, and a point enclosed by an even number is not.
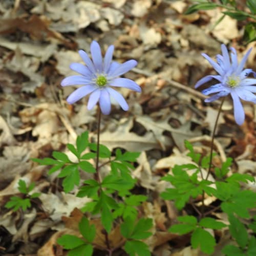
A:
[[[219,75],[203,77],[196,83],[195,88],[200,87],[212,78],[218,80],[217,84],[202,91],[204,95],[214,93],[214,95],[205,99],[205,102],[211,102],[230,94],[234,106],[234,119],[237,124],[241,125],[244,122],[245,114],[240,99],[256,103],[256,95],[253,94],[256,93],[256,86],[253,86],[253,84],[256,84],[256,79],[247,78],[250,73],[253,73],[254,77],[256,77],[256,73],[251,69],[244,69],[245,62],[252,49],[249,49],[240,63],[238,63],[237,52],[234,48],[230,48],[230,58],[225,45],[221,46],[221,50],[222,55],[218,54],[216,56],[217,63],[208,55],[202,53],[203,57],[209,61]]]

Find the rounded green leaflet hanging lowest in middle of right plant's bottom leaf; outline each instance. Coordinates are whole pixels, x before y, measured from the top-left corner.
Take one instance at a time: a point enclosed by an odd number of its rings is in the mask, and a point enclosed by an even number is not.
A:
[[[192,233],[191,245],[194,249],[200,246],[203,252],[211,254],[214,252],[216,242],[209,232],[198,227]]]

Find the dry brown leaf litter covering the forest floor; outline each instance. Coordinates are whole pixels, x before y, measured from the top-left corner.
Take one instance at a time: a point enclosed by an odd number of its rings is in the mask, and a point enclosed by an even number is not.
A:
[[[141,215],[154,220],[153,236],[145,242],[155,255],[201,255],[187,246],[186,236],[166,231],[178,212],[172,202],[159,198],[166,186],[160,178],[175,164],[189,162],[184,139],[209,152],[207,135],[216,108],[214,103],[202,104],[204,96],[193,89],[210,70],[200,53],[203,49],[211,56],[217,54],[221,42],[238,40],[241,31],[229,17],[214,27],[220,9],[184,16],[187,6],[184,1],[164,0],[0,3],[0,236],[9,239],[0,246],[6,253],[63,255],[59,246],[54,249],[57,238],[79,234],[82,214],[77,208],[88,199],[76,198],[76,191],[64,194],[56,176],[47,177],[47,169],[30,158],[65,151],[65,145],[74,144],[84,130],[96,139],[96,111],[86,109],[87,99],[68,105],[65,98],[73,89],[60,87],[63,76],[72,74],[69,63],[81,61],[77,50],[88,51],[95,39],[105,50],[114,44],[117,61],[138,60],[138,67],[125,77],[134,79],[142,94],[122,89],[130,110],[124,113],[114,106],[113,113],[103,118],[101,143],[110,150],[141,152],[133,176],[140,194],[151,198],[142,205]],[[255,42],[249,47],[254,47],[248,59],[248,67],[253,68]],[[239,54],[247,49],[241,47]],[[236,172],[255,176],[255,108],[248,104],[246,122],[234,129],[231,103],[225,102],[216,140],[221,160],[215,158],[216,165],[231,156]],[[20,178],[28,184],[36,182],[35,190],[41,193],[35,208],[24,216],[4,208],[19,193]],[[252,183],[248,186],[255,189]],[[206,198],[205,204],[215,200]],[[98,218],[91,223],[102,228]],[[117,225],[110,234],[113,246],[122,244],[120,237]],[[97,249],[105,248],[101,233],[96,240]],[[227,238],[223,235],[221,241],[227,243]]]

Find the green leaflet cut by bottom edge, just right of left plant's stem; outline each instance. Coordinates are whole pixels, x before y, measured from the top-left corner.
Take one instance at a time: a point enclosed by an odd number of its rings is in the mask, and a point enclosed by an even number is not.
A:
[[[129,256],[151,256],[148,246],[141,241],[126,241],[124,244],[124,250],[129,254]]]

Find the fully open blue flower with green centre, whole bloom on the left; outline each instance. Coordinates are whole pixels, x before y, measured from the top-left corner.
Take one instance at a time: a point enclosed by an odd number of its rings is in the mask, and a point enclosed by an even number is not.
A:
[[[141,88],[136,82],[127,78],[118,78],[137,65],[136,60],[128,60],[122,64],[112,61],[114,46],[110,46],[102,60],[99,44],[93,41],[91,44],[92,60],[83,50],[79,51],[86,66],[80,63],[72,63],[70,69],[80,75],[68,76],[61,81],[61,86],[72,86],[81,84],[82,87],[76,89],[67,98],[68,103],[73,104],[82,97],[91,94],[88,100],[88,110],[99,102],[101,112],[108,115],[111,112],[111,99],[113,97],[124,111],[129,109],[123,96],[111,87],[124,87],[136,92],[141,92]]]

